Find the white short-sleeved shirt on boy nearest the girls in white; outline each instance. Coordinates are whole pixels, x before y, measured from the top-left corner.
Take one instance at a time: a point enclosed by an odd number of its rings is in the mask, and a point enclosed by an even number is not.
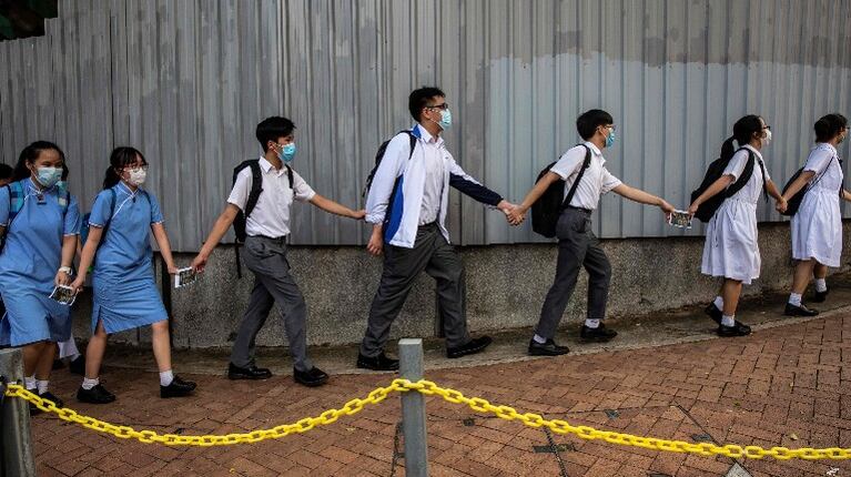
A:
[[[585,146],[591,150],[591,162],[582,174],[579,185],[576,186],[576,193],[574,193],[568,205],[594,211],[600,202],[600,195],[606,194],[622,182],[606,169],[606,159],[599,148],[591,142],[586,142]],[[565,199],[567,199],[567,194],[579,175],[582,163],[585,163],[585,153],[586,150],[582,145],[570,148],[550,168],[550,172],[555,172],[566,182]]]

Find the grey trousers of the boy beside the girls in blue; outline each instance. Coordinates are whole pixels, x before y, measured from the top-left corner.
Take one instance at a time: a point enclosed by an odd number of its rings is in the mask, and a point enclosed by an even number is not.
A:
[[[272,305],[277,302],[293,367],[310,371],[313,364],[307,359],[307,305],[290,274],[285,238],[250,236],[245,240],[243,262],[254,273],[254,290],[233,342],[231,363],[240,367],[254,365],[254,339],[266,323]]]

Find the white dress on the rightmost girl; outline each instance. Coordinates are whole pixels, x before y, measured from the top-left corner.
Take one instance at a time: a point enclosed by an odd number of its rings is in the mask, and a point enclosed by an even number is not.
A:
[[[842,190],[842,165],[837,149],[815,144],[803,165],[814,175],[801,207],[792,216],[792,258],[810,260],[828,266],[840,266],[842,254],[842,214],[839,193]]]

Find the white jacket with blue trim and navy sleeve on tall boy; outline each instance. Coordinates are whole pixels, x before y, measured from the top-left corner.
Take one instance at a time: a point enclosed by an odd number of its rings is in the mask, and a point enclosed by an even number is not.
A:
[[[449,242],[445,226],[449,185],[489,206],[503,200],[464,172],[446,150],[443,139],[434,138],[421,124],[415,124],[411,133],[416,138],[413,153],[407,133],[394,136],[366,197],[366,222],[383,223],[385,242],[405,248],[414,247],[419,225],[435,220]],[[391,194],[393,204],[389,204]]]

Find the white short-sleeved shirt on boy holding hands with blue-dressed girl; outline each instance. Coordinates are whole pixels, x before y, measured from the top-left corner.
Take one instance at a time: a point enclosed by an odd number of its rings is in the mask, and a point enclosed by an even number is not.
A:
[[[290,209],[293,200],[307,202],[316,192],[293,170],[293,187],[290,189],[290,177],[286,166],[276,170],[266,158],[260,158],[260,170],[263,175],[263,193],[257,204],[245,220],[245,233],[249,236],[281,238],[290,235]],[[251,192],[251,169],[245,168],[236,175],[227,203],[245,211]]]

